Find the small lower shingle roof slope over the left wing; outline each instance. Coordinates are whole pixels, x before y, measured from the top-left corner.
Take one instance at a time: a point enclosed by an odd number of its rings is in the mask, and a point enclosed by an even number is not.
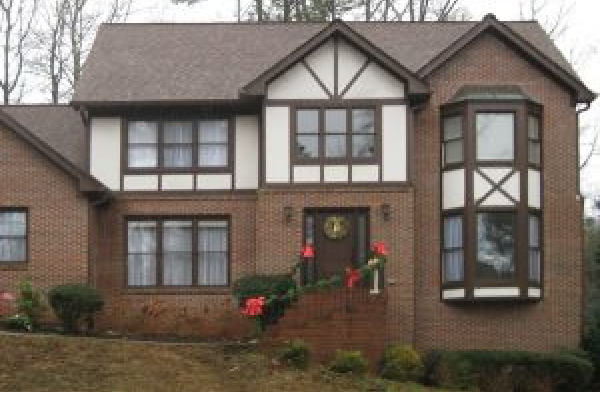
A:
[[[85,127],[79,113],[73,107],[67,105],[2,105],[0,110],[11,116],[73,165],[87,172]]]

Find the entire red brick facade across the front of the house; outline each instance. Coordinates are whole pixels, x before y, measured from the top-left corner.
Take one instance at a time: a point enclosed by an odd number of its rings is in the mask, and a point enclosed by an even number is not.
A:
[[[558,82],[492,35],[477,38],[427,78],[432,95],[412,121],[408,186],[261,189],[256,193],[117,193],[90,207],[75,182],[10,132],[0,130],[0,207],[29,208],[30,261],[0,266],[0,290],[31,276],[42,288],[87,281],[106,297],[103,329],[235,337],[252,328],[231,290],[127,288],[129,216],[231,218],[231,281],[288,272],[302,246],[306,208],[368,208],[371,240],[384,241],[387,340],[432,348],[576,347],[581,326],[581,203],[577,190],[577,119]],[[518,85],[544,108],[544,298],[531,303],[447,304],[440,300],[439,108],[463,85]],[[27,182],[22,179],[26,178]],[[16,186],[18,184],[18,186]],[[390,206],[384,220],[381,206]],[[292,209],[286,220],[284,207]],[[91,213],[90,213],[91,212]],[[91,236],[88,237],[88,233]],[[89,258],[89,272],[88,272]],[[366,326],[366,325],[365,325]],[[363,337],[380,332],[363,329]]]

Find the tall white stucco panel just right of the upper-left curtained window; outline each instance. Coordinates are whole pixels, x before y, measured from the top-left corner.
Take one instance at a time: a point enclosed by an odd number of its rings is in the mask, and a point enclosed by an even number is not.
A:
[[[258,188],[258,117],[235,118],[235,188]]]

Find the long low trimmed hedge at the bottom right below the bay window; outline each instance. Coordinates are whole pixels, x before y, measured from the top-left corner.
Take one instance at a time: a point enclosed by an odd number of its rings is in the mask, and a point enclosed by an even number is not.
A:
[[[578,391],[594,374],[592,364],[565,353],[433,351],[427,380],[447,389],[482,391]]]

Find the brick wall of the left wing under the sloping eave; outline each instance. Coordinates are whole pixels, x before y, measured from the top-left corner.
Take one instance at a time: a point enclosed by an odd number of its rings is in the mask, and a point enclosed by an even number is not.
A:
[[[0,127],[0,184],[0,208],[27,208],[29,220],[29,260],[18,267],[0,263],[0,291],[14,291],[25,278],[42,290],[86,282],[88,202],[77,181]]]

